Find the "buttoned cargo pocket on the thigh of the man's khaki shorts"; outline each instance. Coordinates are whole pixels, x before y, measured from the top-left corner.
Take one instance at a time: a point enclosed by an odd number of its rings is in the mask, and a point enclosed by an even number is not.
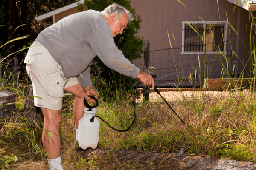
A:
[[[64,93],[64,81],[62,77],[50,76],[50,85],[47,90],[47,95],[52,96],[53,98],[63,97]]]

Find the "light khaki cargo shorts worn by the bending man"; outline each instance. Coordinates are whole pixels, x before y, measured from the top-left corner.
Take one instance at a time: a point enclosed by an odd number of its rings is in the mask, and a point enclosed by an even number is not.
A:
[[[64,88],[79,84],[77,78],[65,78],[61,66],[38,41],[31,45],[24,62],[32,81],[34,96],[37,96],[34,97],[35,106],[51,110],[61,109]]]

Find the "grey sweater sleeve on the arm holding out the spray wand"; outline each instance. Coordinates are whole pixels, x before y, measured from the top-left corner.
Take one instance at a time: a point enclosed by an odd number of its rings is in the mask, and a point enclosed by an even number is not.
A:
[[[132,78],[137,77],[140,72],[139,68],[126,59],[122,51],[118,50],[110,28],[97,29],[90,37],[87,37],[87,40],[95,54],[106,66],[120,74]]]

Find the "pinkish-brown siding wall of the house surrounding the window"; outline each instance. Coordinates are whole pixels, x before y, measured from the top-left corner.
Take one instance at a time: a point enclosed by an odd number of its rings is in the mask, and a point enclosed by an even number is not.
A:
[[[177,83],[178,79],[182,79],[181,85],[203,85],[203,81],[189,82],[189,74],[194,74],[195,69],[197,74],[201,70],[201,80],[204,78],[204,72],[209,78],[221,78],[222,66],[217,58],[224,58],[214,54],[181,54],[182,46],[182,21],[225,21],[228,19],[234,29],[240,30],[240,37],[243,41],[248,40],[250,36],[248,25],[248,11],[243,8],[235,7],[234,4],[226,0],[132,0],[131,4],[136,9],[136,14],[140,15],[142,23],[138,36],[144,37],[144,40],[150,41],[150,51],[170,48],[167,32],[169,33],[170,41],[173,50],[162,50],[150,52],[150,65],[156,68],[154,74],[158,81],[157,85],[169,86]],[[219,6],[219,8],[218,8]],[[238,14],[240,8],[240,26],[237,28]],[[227,14],[227,16],[226,16]],[[246,32],[247,25],[247,34]],[[232,60],[232,51],[235,51],[237,43],[239,43],[239,56],[243,55],[245,59],[248,58],[247,52],[244,52],[244,45],[241,41],[236,41],[236,33],[230,28],[227,35],[226,51],[227,57]],[[231,40],[231,41],[230,41]],[[248,42],[247,42],[248,43]],[[230,54],[230,55],[229,55]],[[198,58],[201,66],[199,66]],[[204,68],[204,63],[207,63],[207,69]],[[236,62],[239,62],[236,59]],[[143,57],[134,60],[133,63],[143,70]],[[231,64],[233,62],[230,62]],[[226,63],[224,63],[226,64]],[[240,63],[241,64],[241,63]],[[176,66],[175,66],[176,65]],[[236,65],[235,74],[241,74],[241,67]],[[232,72],[233,65],[230,65]],[[177,72],[179,78],[177,78]],[[236,75],[235,75],[236,76]]]

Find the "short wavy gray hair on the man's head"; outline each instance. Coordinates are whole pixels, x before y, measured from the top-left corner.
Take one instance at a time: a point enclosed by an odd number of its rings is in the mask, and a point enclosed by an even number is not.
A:
[[[132,17],[132,14],[130,11],[125,9],[124,7],[118,5],[117,3],[113,3],[112,5],[109,5],[107,8],[105,8],[101,13],[105,16],[111,16],[112,14],[116,14],[116,18],[118,18],[125,12],[125,14],[129,18],[129,23],[134,20],[134,17]]]

